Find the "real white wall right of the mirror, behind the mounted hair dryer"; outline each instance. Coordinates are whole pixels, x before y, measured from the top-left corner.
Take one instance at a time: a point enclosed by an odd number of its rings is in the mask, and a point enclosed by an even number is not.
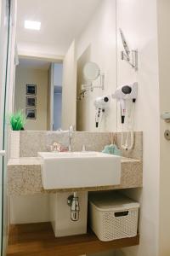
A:
[[[139,71],[134,73],[126,61],[120,60],[122,42],[118,38],[118,85],[139,82],[135,130],[144,132],[144,188],[128,191],[141,204],[140,244],[123,252],[129,256],[158,256],[160,131],[156,0],[117,1],[117,26],[122,28],[129,46],[139,49]]]

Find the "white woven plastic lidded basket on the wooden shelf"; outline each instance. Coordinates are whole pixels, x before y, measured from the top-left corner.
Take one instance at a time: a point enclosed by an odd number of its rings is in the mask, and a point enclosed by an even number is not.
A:
[[[105,199],[103,199],[105,200]],[[117,204],[117,200],[119,203]],[[112,241],[137,235],[139,203],[127,197],[114,195],[107,202],[89,201],[89,215],[92,230],[100,241]]]

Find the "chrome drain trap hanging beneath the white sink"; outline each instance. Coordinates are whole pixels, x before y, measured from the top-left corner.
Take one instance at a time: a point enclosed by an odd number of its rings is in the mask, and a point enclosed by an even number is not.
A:
[[[72,221],[79,220],[80,206],[79,206],[77,192],[74,192],[73,195],[70,195],[67,198],[67,204],[69,207],[71,207],[71,220]]]

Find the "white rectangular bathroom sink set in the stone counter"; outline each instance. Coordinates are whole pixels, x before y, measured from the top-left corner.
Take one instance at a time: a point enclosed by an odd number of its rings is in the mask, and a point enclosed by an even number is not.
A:
[[[120,184],[121,157],[100,152],[38,152],[44,189]]]

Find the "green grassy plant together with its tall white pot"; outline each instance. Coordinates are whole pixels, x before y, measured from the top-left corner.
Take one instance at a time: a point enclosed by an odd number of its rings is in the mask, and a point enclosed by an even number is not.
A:
[[[11,126],[11,137],[10,137],[10,157],[20,157],[20,131],[24,130],[26,124],[26,117],[22,111],[11,113],[9,116],[9,122]]]

